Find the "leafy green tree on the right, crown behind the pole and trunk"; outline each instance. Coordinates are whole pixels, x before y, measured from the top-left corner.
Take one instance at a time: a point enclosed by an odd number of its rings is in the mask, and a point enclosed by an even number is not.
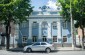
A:
[[[72,19],[76,20],[75,27],[82,29],[82,49],[84,49],[84,27],[85,27],[85,0],[59,0],[62,6],[62,15],[66,20],[70,20],[70,2]]]

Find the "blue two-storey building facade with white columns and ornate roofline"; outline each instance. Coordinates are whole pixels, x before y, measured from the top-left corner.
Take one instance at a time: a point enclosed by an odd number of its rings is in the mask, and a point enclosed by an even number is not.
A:
[[[71,46],[71,25],[65,22],[56,11],[43,6],[38,11],[33,11],[27,22],[19,25],[18,46],[24,46],[33,42],[50,42],[57,46]]]

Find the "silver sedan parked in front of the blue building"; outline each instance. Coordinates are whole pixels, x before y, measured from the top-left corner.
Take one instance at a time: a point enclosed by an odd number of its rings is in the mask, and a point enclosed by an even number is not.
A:
[[[46,51],[49,53],[51,50],[54,50],[53,44],[49,44],[47,42],[36,42],[32,45],[25,46],[24,51],[31,52],[31,51]]]

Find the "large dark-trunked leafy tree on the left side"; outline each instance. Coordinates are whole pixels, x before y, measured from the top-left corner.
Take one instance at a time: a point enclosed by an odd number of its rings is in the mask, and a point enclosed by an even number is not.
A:
[[[9,49],[10,23],[20,23],[27,21],[31,14],[32,6],[30,0],[1,0],[0,1],[0,21],[6,25],[6,49]]]

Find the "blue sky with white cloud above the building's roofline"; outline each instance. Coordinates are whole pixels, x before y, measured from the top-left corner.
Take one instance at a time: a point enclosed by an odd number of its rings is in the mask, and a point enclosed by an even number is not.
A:
[[[34,6],[33,10],[38,10],[39,7],[42,7],[44,5],[47,5],[55,10],[56,9],[56,5],[55,5],[56,1],[57,0],[52,0],[52,1],[49,1],[49,0],[31,0],[31,4],[32,4],[32,6]]]

